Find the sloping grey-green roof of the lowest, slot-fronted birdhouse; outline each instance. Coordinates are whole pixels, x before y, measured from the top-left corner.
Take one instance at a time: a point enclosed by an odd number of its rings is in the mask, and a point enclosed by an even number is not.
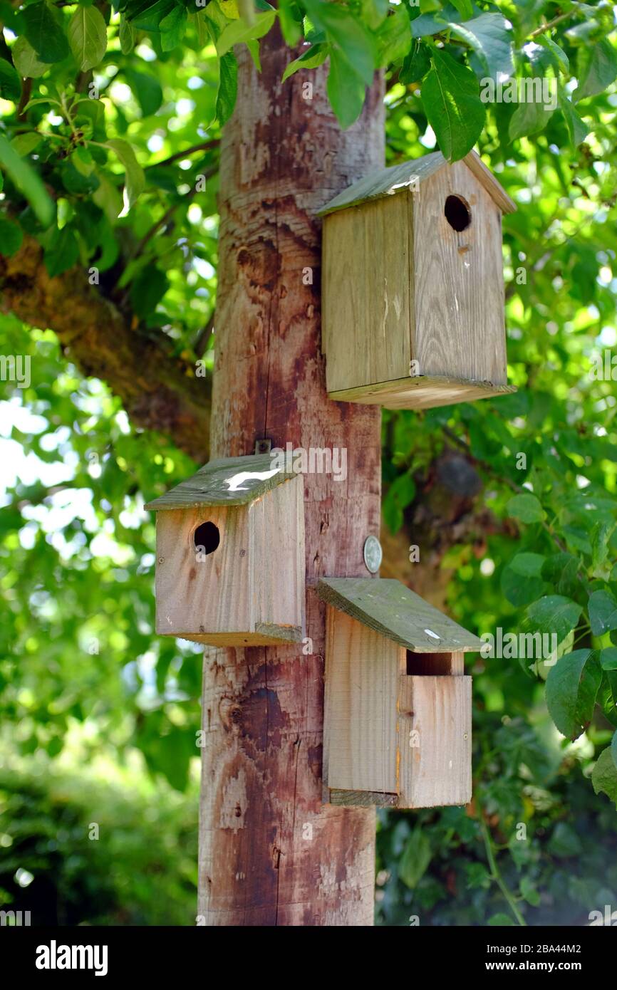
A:
[[[481,641],[393,578],[327,577],[320,598],[414,653],[479,651]]]

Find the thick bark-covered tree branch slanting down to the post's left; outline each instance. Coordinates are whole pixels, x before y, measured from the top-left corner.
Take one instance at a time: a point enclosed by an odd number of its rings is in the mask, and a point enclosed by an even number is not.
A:
[[[133,422],[169,435],[203,463],[208,459],[211,382],[172,353],[164,334],[139,330],[83,268],[51,278],[33,239],[13,257],[0,256],[0,308],[55,332],[65,356],[86,375],[107,382]]]

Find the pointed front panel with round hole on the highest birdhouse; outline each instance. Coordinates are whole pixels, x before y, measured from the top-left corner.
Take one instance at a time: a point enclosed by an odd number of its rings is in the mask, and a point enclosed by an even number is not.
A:
[[[459,161],[420,184],[413,214],[417,373],[506,384],[499,207]]]

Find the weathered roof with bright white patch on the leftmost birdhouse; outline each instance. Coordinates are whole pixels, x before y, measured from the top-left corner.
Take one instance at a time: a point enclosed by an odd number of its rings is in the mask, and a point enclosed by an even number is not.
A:
[[[209,460],[196,474],[181,481],[164,495],[148,502],[145,509],[196,509],[200,505],[248,505],[295,473],[272,467],[269,453]]]

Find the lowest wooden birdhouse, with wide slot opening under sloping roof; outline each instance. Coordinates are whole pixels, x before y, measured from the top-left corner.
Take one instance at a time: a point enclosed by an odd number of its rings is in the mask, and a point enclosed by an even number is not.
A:
[[[471,798],[477,637],[400,581],[325,578],[325,800],[433,808]]]

